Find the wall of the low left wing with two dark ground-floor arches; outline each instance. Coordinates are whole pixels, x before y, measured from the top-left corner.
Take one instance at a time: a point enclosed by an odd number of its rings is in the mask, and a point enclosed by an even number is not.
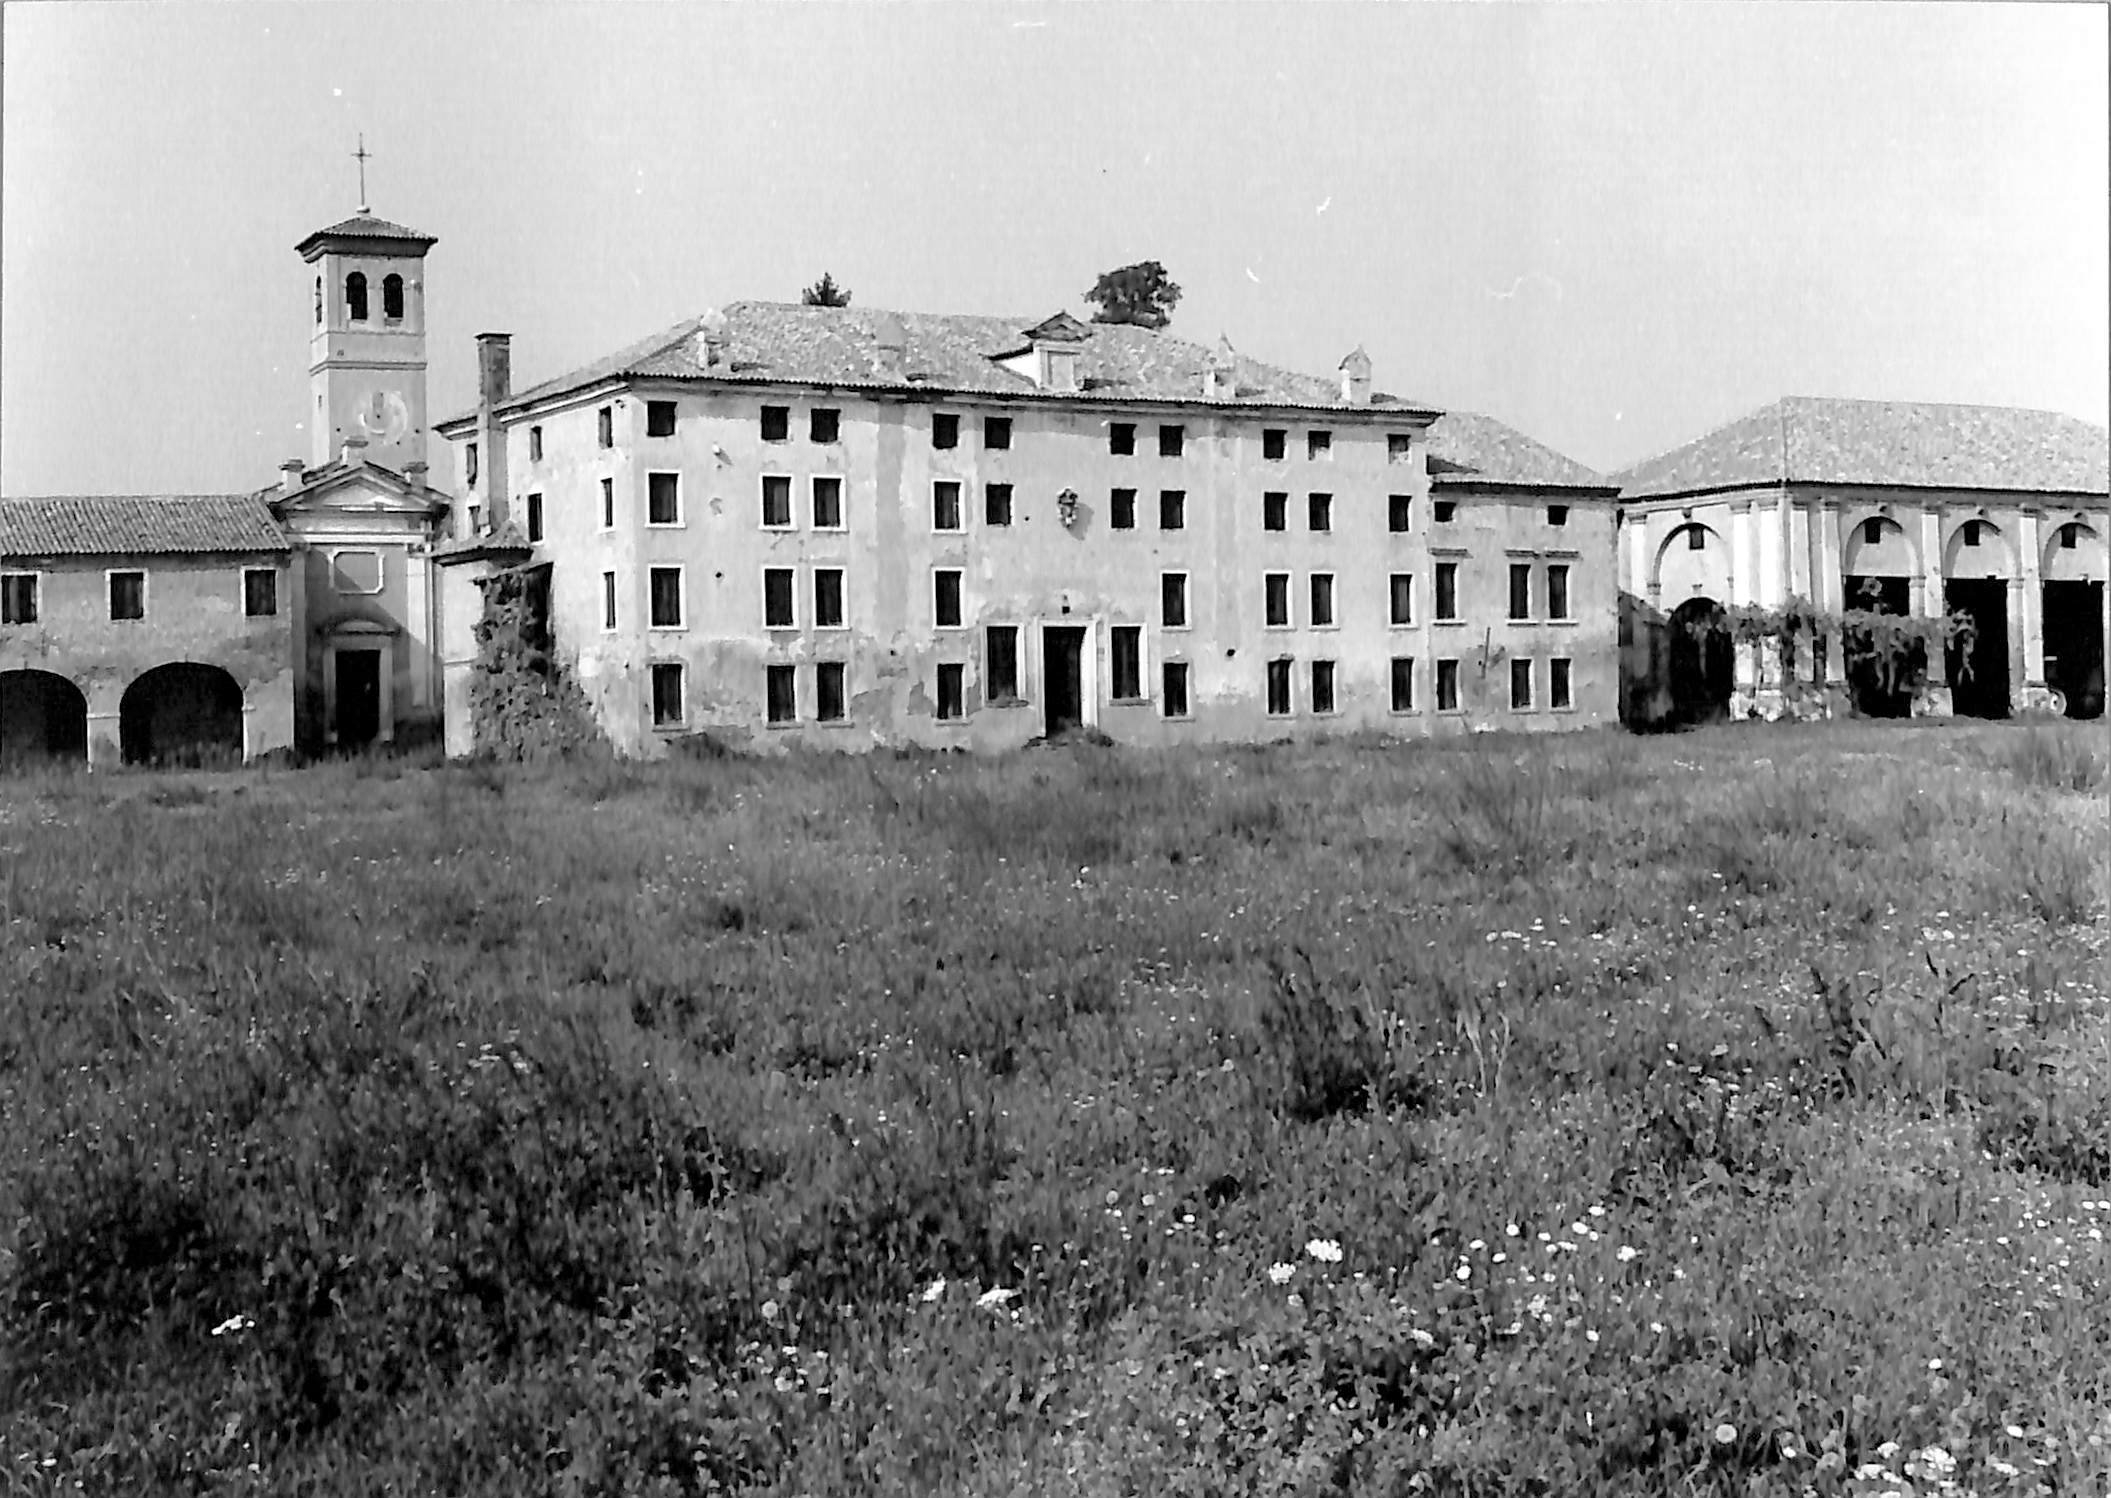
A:
[[[279,576],[279,612],[243,614],[243,572]],[[125,688],[160,665],[224,669],[243,690],[249,757],[293,747],[293,606],[289,559],[251,557],[8,557],[34,572],[38,622],[0,625],[0,671],[51,671],[89,703],[89,762],[116,764]],[[110,618],[110,572],[146,574],[146,618]]]

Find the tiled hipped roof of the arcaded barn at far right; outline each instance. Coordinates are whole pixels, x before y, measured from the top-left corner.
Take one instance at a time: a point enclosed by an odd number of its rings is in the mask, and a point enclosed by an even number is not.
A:
[[[1788,397],[1613,475],[1628,498],[1756,483],[2111,492],[2111,433],[2008,405]]]

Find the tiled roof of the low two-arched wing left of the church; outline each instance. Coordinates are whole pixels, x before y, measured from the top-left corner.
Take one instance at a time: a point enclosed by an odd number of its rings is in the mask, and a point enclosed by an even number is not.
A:
[[[249,494],[87,494],[0,500],[0,555],[127,557],[291,551]]]

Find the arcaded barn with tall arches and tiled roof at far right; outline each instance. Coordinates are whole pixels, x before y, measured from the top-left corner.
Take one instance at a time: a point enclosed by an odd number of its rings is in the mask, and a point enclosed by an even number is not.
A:
[[[1613,475],[1632,717],[2103,711],[2111,433],[2056,411],[1788,397]],[[1970,635],[1898,681],[1841,644],[1799,660],[1678,644],[1803,599]]]

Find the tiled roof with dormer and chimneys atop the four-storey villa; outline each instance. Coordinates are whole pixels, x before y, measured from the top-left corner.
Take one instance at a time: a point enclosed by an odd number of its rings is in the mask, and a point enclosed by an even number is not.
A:
[[[880,308],[800,306],[790,302],[735,302],[722,314],[684,319],[673,327],[621,348],[606,359],[513,395],[519,407],[612,378],[754,380],[790,384],[872,386],[963,395],[1043,395],[1056,401],[1193,401],[1207,405],[1351,407],[1340,384],[1294,373],[1239,354],[1231,401],[1203,401],[1203,371],[1218,352],[1169,333],[1125,323],[1083,323],[1079,390],[1039,390],[1032,380],[996,363],[1028,346],[1026,331],[1041,316],[965,316],[950,312],[885,312]],[[722,338],[718,367],[703,363],[699,331],[716,323]],[[880,338],[899,338],[893,367]],[[1391,395],[1372,407],[1429,411]],[[462,418],[456,418],[462,420]]]

